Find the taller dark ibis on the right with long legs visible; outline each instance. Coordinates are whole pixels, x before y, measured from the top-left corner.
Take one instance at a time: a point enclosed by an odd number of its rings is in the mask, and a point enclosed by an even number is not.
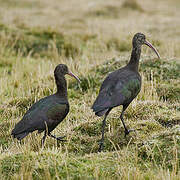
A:
[[[120,105],[123,106],[120,119],[125,129],[125,136],[132,131],[127,129],[124,123],[123,115],[126,108],[141,90],[141,76],[138,72],[138,67],[141,55],[141,46],[143,44],[153,49],[158,58],[160,58],[159,53],[152,44],[146,40],[144,34],[135,34],[132,40],[133,48],[130,61],[126,66],[110,73],[106,77],[101,85],[99,95],[92,106],[92,109],[97,116],[103,116],[105,114],[102,122],[102,138],[100,141],[99,151],[103,149],[106,118],[112,108]]]

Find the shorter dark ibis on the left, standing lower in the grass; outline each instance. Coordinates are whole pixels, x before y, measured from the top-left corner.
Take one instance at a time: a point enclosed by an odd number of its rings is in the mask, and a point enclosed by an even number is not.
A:
[[[40,99],[31,106],[22,120],[19,121],[12,130],[12,136],[14,138],[21,140],[29,133],[38,130],[38,133],[44,131],[42,144],[44,144],[47,135],[57,140],[63,139],[63,137],[52,135],[51,131],[56,128],[69,112],[67,83],[65,79],[66,74],[74,77],[80,82],[79,78],[70,72],[66,65],[57,65],[54,70],[57,92]]]

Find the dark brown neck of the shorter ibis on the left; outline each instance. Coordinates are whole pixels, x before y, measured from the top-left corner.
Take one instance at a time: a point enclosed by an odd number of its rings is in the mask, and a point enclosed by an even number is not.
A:
[[[67,82],[64,76],[56,78],[57,94],[62,97],[67,97]]]

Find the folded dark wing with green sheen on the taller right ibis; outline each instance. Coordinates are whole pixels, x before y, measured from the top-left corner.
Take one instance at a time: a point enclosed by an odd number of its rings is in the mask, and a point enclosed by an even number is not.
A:
[[[100,89],[92,109],[94,112],[131,102],[139,93],[141,80],[137,76],[108,76]]]

